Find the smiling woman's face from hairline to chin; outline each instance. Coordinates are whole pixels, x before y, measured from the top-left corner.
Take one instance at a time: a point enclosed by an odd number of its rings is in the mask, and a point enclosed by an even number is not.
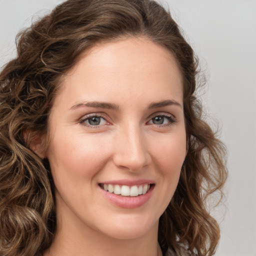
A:
[[[146,39],[81,56],[49,118],[46,157],[62,226],[118,238],[157,230],[186,154],[182,96],[173,56]]]

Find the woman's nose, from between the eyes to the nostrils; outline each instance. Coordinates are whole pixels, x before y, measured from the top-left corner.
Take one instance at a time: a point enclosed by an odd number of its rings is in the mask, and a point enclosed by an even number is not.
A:
[[[146,135],[129,125],[115,134],[113,162],[116,166],[138,172],[151,162]]]

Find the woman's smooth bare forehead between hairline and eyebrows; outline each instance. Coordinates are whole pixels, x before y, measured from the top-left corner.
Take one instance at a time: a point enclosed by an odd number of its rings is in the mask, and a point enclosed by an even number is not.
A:
[[[182,102],[182,76],[172,53],[145,38],[100,43],[85,51],[61,79],[66,102],[75,100],[129,100],[129,96],[171,91]],[[136,91],[134,94],[133,92]],[[111,96],[113,98],[111,98]],[[83,97],[85,97],[83,99]]]

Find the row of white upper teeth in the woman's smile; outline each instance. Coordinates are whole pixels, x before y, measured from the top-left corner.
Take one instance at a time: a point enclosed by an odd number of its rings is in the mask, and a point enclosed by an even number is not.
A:
[[[127,185],[103,184],[105,191],[123,196],[137,196],[139,194],[145,194],[149,187],[149,184],[134,185],[130,187]]]

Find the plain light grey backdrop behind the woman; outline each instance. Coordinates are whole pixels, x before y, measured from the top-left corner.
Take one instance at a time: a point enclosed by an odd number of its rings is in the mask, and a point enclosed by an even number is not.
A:
[[[0,0],[0,66],[15,56],[18,30],[60,2]],[[256,1],[161,2],[200,58],[202,100],[228,149],[227,199],[213,212],[222,231],[216,255],[256,256]]]

